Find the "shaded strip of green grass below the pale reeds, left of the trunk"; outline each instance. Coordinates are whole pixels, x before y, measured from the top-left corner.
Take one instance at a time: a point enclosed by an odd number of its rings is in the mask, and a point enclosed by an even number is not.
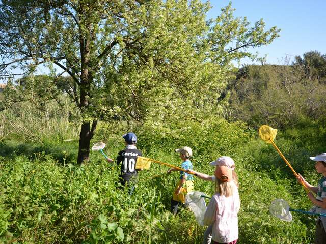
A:
[[[58,143],[28,143],[17,141],[0,141],[0,156],[13,158],[18,155],[24,155],[30,159],[35,159],[39,153],[44,152],[51,155],[61,164],[76,164],[78,154],[77,142]]]

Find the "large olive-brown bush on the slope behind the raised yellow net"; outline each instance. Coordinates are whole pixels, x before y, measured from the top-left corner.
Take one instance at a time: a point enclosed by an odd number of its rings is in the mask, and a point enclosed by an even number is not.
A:
[[[300,65],[251,65],[229,85],[233,117],[259,127],[293,127],[324,118],[326,86]]]

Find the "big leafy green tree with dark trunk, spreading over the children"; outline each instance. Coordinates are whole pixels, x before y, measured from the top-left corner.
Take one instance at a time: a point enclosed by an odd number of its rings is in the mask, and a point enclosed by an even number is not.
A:
[[[17,67],[25,75],[40,64],[60,68],[38,88],[56,87],[58,72],[71,77],[61,87],[82,116],[82,163],[99,119],[162,121],[179,106],[185,116],[204,117],[231,60],[257,58],[247,48],[278,36],[276,27],[264,31],[262,20],[250,27],[234,18],[231,4],[206,21],[209,8],[200,0],[3,0],[0,71],[5,78]]]

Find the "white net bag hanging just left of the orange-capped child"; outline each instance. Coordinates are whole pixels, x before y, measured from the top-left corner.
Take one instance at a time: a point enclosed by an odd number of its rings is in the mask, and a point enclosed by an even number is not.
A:
[[[185,204],[194,212],[198,224],[204,226],[203,219],[206,211],[206,202],[202,196],[205,196],[205,193],[196,191],[188,193],[185,197]]]

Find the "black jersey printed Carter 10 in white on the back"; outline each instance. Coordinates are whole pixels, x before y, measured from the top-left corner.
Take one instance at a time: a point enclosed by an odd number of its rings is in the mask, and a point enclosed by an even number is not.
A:
[[[135,166],[138,156],[142,156],[142,152],[135,146],[128,145],[124,150],[119,151],[117,165],[121,163],[120,175],[124,180],[129,180],[131,176],[137,175]]]

